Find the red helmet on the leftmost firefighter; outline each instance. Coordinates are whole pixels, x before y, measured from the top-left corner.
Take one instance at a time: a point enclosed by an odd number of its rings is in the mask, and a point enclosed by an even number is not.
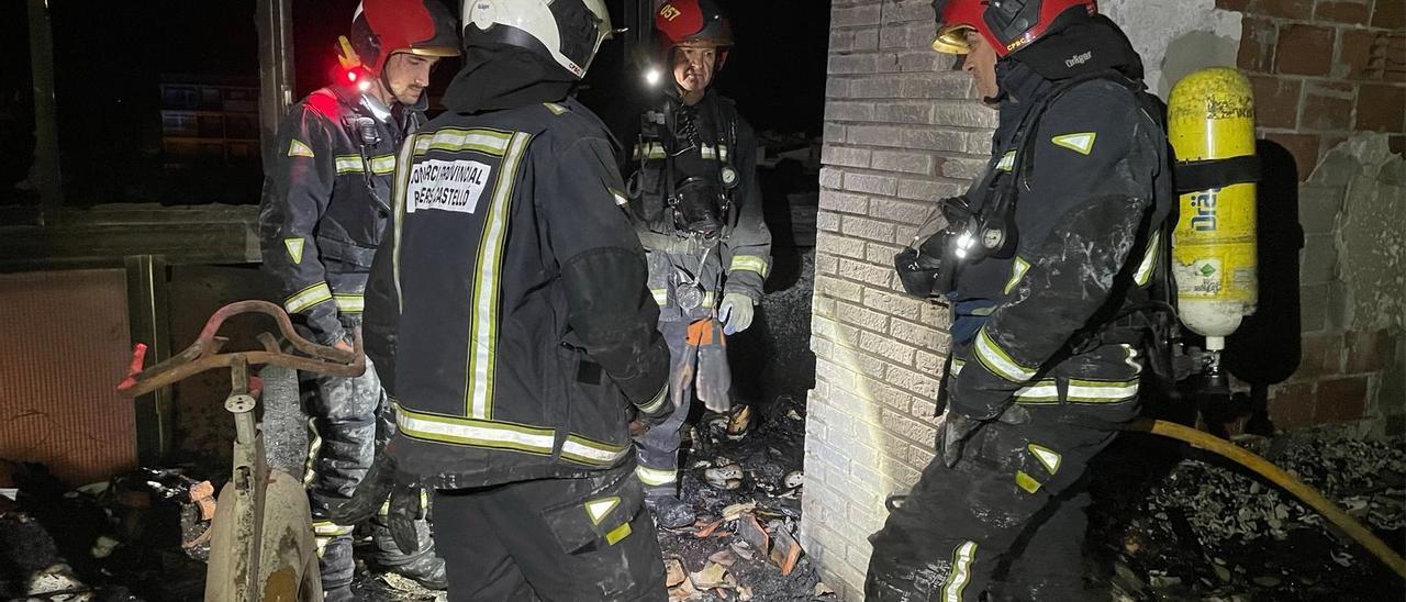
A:
[[[350,44],[342,41],[342,66],[377,76],[396,52],[458,56],[458,27],[449,8],[440,0],[361,0],[352,14]]]

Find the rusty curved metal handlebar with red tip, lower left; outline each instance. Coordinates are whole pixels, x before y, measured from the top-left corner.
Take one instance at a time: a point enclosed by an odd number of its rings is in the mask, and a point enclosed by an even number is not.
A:
[[[219,349],[228,339],[215,335],[219,332],[219,326],[225,324],[225,319],[239,314],[264,314],[271,316],[278,324],[278,332],[283,333],[284,339],[307,356],[284,353],[273,342],[271,336],[263,335],[259,336],[260,343],[264,346],[262,352],[219,353]],[[205,328],[201,329],[200,338],[194,343],[166,361],[138,371],[136,369],[141,367],[143,354],[145,346],[139,345],[134,353],[127,378],[117,385],[117,390],[122,394],[132,397],[142,395],[190,378],[205,370],[231,367],[240,361],[247,366],[283,366],[326,376],[360,376],[366,371],[366,353],[361,349],[360,331],[353,331],[352,333],[350,352],[318,345],[299,336],[292,329],[292,321],[288,319],[288,314],[281,307],[269,301],[236,301],[217,309],[205,321]]]

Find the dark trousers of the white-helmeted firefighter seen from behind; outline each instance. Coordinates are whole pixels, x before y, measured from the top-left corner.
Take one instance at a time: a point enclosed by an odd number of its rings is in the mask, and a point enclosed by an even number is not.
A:
[[[450,602],[668,599],[634,463],[434,495]]]

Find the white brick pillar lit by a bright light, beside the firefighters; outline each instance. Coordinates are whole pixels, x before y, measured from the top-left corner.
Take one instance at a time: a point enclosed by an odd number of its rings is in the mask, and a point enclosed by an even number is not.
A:
[[[832,3],[801,540],[846,601],[884,498],[934,456],[949,346],[946,309],[898,293],[893,255],[984,166],[995,124],[932,37],[928,0]]]

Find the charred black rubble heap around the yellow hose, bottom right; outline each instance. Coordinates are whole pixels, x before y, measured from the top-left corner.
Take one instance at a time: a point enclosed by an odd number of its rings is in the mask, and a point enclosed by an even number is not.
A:
[[[1244,443],[1361,520],[1406,543],[1406,440],[1299,433]],[[1194,453],[1195,454],[1195,453]],[[1097,480],[1112,478],[1101,474]],[[1126,473],[1122,477],[1128,477]],[[1108,495],[1095,542],[1116,550],[1123,599],[1402,599],[1402,579],[1294,495],[1209,456],[1150,475],[1136,499]],[[1095,485],[1097,487],[1097,485]],[[1126,491],[1125,489],[1125,491]],[[1107,508],[1107,506],[1112,508]],[[1095,506],[1097,508],[1097,506]]]

